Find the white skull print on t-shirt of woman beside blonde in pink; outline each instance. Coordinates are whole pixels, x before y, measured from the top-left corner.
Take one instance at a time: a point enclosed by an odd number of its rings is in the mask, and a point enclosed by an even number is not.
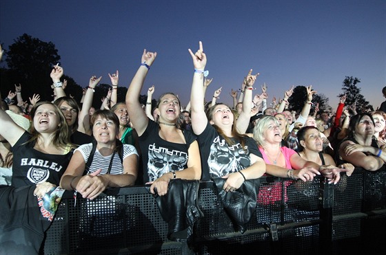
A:
[[[210,155],[207,159],[210,175],[222,177],[250,166],[250,153],[247,146],[245,147],[242,148],[241,144],[228,146],[224,139],[216,137],[210,146]]]

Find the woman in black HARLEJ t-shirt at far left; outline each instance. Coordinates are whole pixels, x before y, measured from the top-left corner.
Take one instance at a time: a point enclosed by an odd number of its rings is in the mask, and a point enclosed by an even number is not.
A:
[[[72,156],[68,125],[59,108],[38,102],[30,114],[29,133],[0,109],[0,135],[13,153],[12,186],[0,188],[0,247],[5,254],[38,254],[55,212],[44,209],[41,198],[59,185]]]

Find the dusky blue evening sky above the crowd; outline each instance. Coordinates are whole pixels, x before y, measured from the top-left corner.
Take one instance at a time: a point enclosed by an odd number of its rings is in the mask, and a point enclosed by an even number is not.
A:
[[[346,76],[374,109],[385,100],[385,0],[94,0],[0,1],[0,43],[5,49],[26,33],[54,43],[66,75],[82,87],[91,76],[119,70],[128,87],[143,49],[157,52],[141,94],[172,91],[186,105],[199,41],[207,55],[206,99],[232,106],[247,72],[260,73],[268,102],[292,85],[309,86],[336,109]],[[5,63],[1,63],[3,67]]]

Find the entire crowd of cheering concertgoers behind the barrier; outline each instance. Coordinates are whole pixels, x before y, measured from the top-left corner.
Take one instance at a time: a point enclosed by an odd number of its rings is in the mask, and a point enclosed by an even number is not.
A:
[[[212,79],[205,74],[203,43],[188,52],[194,72],[186,107],[172,91],[163,91],[152,109],[154,85],[146,105],[139,102],[157,56],[146,49],[125,102],[116,102],[119,71],[109,74],[111,89],[95,109],[94,88],[101,77],[90,78],[77,102],[65,93],[59,65],[50,74],[52,102],[41,101],[39,94],[30,103],[23,101],[21,85],[1,97],[0,243],[6,250],[39,253],[49,223],[37,228],[32,222],[42,218],[38,203],[29,212],[20,208],[58,188],[93,200],[106,188],[139,184],[163,196],[172,179],[220,177],[226,179],[223,190],[234,192],[244,181],[263,175],[289,181],[321,175],[337,184],[341,174],[350,176],[355,168],[376,171],[385,164],[386,101],[377,111],[357,113],[343,96],[336,113],[319,112],[310,85],[300,112],[288,108],[294,87],[267,107],[267,86],[254,95],[259,74],[250,69],[240,92],[230,93],[232,106],[217,102],[222,88],[207,102]],[[386,97],[386,87],[382,92]],[[26,219],[26,213],[33,217]],[[21,234],[26,241],[14,242]]]

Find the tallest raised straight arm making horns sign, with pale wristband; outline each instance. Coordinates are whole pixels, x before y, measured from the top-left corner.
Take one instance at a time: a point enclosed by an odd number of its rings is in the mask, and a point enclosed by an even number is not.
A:
[[[192,91],[190,93],[192,129],[196,135],[203,133],[207,118],[204,107],[204,90],[203,90],[203,71],[207,63],[206,55],[203,52],[203,43],[199,42],[199,50],[193,54],[191,49],[188,49],[190,56],[192,56],[194,65],[194,74],[192,82]]]

